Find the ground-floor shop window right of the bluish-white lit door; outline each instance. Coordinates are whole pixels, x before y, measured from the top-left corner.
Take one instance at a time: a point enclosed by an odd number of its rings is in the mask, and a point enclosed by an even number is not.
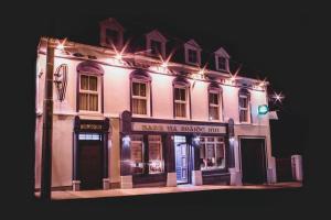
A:
[[[224,138],[202,136],[200,143],[201,169],[225,168]]]

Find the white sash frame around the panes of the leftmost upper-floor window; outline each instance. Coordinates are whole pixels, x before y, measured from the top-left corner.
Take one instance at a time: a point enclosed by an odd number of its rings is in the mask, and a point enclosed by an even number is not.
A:
[[[87,77],[96,77],[97,78],[97,90],[96,91],[93,91],[93,90],[85,90],[85,89],[82,89],[82,76],[87,76]],[[98,110],[97,111],[90,111],[90,110],[81,110],[81,101],[79,101],[79,106],[78,106],[78,109],[79,109],[79,112],[81,113],[100,113],[102,112],[102,89],[100,89],[100,77],[102,76],[97,76],[95,74],[89,74],[89,73],[82,73],[78,75],[79,77],[79,90],[78,90],[78,99],[81,99],[81,94],[92,94],[92,95],[97,95],[98,96]],[[88,81],[89,84],[89,81]],[[88,102],[89,105],[89,102]],[[89,108],[88,108],[89,109]]]

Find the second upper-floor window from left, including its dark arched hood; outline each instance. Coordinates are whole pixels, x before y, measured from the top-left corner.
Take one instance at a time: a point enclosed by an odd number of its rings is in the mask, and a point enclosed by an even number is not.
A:
[[[135,70],[131,79],[131,112],[138,116],[150,116],[150,76],[143,70]]]

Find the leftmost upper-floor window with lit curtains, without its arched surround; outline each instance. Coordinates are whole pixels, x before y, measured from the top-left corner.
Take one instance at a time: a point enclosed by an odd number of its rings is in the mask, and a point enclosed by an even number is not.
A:
[[[79,80],[79,110],[98,111],[99,107],[98,77],[81,75]]]

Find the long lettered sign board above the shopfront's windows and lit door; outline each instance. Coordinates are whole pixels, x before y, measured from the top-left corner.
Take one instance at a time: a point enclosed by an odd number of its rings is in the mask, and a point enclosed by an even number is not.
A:
[[[182,133],[216,133],[225,134],[224,125],[192,125],[132,122],[132,131],[182,132]]]

